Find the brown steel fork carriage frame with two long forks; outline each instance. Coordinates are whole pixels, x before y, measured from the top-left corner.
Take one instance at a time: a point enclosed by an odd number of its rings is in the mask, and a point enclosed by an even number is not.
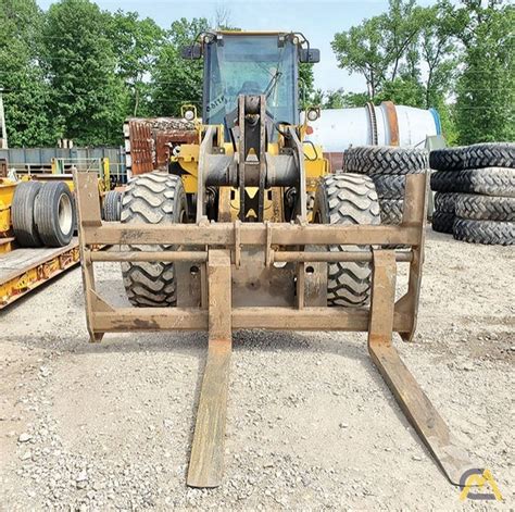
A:
[[[104,333],[208,330],[208,360],[202,382],[187,484],[216,487],[222,483],[231,333],[237,329],[368,332],[370,357],[427,448],[451,483],[470,467],[413,375],[392,346],[392,333],[412,340],[417,319],[424,260],[424,227],[428,176],[407,175],[403,221],[393,225],[310,225],[297,223],[209,223],[135,225],[103,223],[96,176],[75,173],[79,247],[91,341]],[[97,245],[122,246],[120,251],[93,252]],[[171,251],[130,251],[129,245],[180,245]],[[399,246],[402,250],[329,251],[327,246]],[[313,246],[322,246],[313,250]],[[184,249],[181,249],[184,248]],[[235,275],[247,251],[258,249],[261,264],[294,269],[294,304],[241,305]],[[243,252],[243,258],[242,258]],[[106,261],[175,262],[186,284],[187,305],[177,308],[113,308],[96,291],[93,264]],[[328,308],[327,263],[368,261],[372,265],[370,305]],[[395,301],[397,262],[410,264],[406,294]],[[194,264],[190,267],[191,264]],[[244,265],[243,265],[244,266]],[[193,273],[193,269],[196,272]],[[194,274],[194,275],[193,275]],[[180,276],[179,276],[180,277]],[[244,279],[244,276],[243,276]],[[179,279],[179,298],[181,284]],[[252,297],[252,294],[247,292]],[[188,298],[192,300],[188,300]],[[241,296],[239,296],[241,297]],[[194,304],[194,305],[191,305]]]

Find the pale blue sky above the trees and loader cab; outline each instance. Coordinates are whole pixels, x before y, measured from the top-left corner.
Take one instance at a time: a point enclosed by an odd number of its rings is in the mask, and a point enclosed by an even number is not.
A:
[[[48,9],[53,2],[39,0],[38,3]],[[363,91],[365,82],[338,68],[330,47],[334,35],[388,9],[388,0],[97,0],[97,3],[109,11],[137,11],[164,28],[180,17],[214,20],[217,9],[226,9],[230,12],[230,24],[242,29],[302,32],[313,48],[321,49],[315,87],[325,90],[343,87],[346,91]]]

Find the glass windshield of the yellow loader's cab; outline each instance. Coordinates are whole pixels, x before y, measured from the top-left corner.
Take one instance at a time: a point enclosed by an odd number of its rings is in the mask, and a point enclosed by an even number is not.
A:
[[[298,123],[297,48],[277,35],[224,35],[206,46],[203,118],[225,124],[239,95],[266,95],[276,122]]]

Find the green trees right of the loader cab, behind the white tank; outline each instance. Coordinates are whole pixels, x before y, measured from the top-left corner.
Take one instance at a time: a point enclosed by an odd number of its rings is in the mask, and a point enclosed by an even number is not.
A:
[[[386,13],[335,35],[361,93],[316,91],[326,108],[366,101],[436,108],[449,142],[515,140],[515,9],[500,0],[390,0]]]

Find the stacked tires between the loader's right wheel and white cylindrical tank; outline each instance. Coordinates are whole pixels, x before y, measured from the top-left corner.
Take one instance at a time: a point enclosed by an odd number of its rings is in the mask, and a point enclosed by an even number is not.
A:
[[[344,153],[344,170],[370,176],[379,198],[382,224],[401,224],[407,174],[425,173],[429,154],[425,149],[392,146],[360,146]]]

